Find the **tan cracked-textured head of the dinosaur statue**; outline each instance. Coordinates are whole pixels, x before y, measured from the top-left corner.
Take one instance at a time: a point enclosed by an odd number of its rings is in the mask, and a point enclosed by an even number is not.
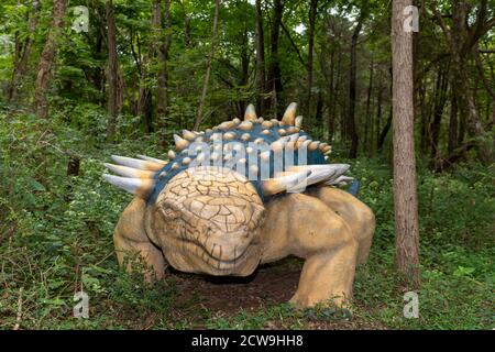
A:
[[[188,168],[150,206],[147,232],[172,266],[210,275],[249,275],[260,263],[263,202],[243,175]]]

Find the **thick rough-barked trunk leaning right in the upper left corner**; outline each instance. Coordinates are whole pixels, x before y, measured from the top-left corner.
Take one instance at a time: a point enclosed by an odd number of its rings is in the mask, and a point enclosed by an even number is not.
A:
[[[50,85],[52,66],[55,61],[55,53],[58,40],[64,26],[64,15],[67,8],[67,0],[53,0],[52,22],[46,37],[45,46],[37,65],[37,76],[34,88],[34,110],[38,118],[48,117],[48,102],[46,90]]]

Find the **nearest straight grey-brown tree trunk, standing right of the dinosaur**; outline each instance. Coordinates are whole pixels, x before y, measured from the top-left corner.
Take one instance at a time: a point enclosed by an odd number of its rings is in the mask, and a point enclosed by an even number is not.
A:
[[[419,230],[414,141],[413,32],[403,29],[411,0],[393,0],[393,144],[395,265],[413,288],[419,285]]]

